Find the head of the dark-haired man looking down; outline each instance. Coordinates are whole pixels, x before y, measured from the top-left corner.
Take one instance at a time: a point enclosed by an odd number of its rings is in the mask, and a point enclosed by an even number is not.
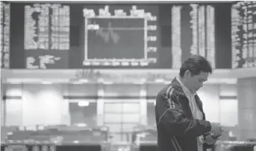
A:
[[[193,55],[184,61],[180,68],[180,78],[184,86],[192,93],[196,93],[212,73],[210,63],[204,57]]]

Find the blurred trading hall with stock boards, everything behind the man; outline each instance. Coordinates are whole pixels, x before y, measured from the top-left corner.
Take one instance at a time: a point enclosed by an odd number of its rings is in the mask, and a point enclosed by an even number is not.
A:
[[[1,150],[157,150],[157,92],[192,54],[213,67],[198,92],[225,129],[213,150],[256,150],[255,12],[255,1],[1,1]]]

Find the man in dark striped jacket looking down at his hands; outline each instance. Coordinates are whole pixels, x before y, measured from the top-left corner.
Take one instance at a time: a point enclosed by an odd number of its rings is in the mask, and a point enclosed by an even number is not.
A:
[[[206,151],[216,143],[222,128],[205,121],[202,101],[196,94],[211,73],[210,63],[194,55],[183,62],[179,77],[158,92],[158,151]]]

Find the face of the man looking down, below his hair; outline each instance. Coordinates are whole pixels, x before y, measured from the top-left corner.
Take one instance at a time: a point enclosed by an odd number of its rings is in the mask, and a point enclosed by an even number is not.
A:
[[[198,75],[192,75],[190,71],[186,71],[184,74],[186,78],[187,89],[191,91],[191,93],[196,93],[202,86],[205,81],[208,79],[208,72],[201,71]]]

